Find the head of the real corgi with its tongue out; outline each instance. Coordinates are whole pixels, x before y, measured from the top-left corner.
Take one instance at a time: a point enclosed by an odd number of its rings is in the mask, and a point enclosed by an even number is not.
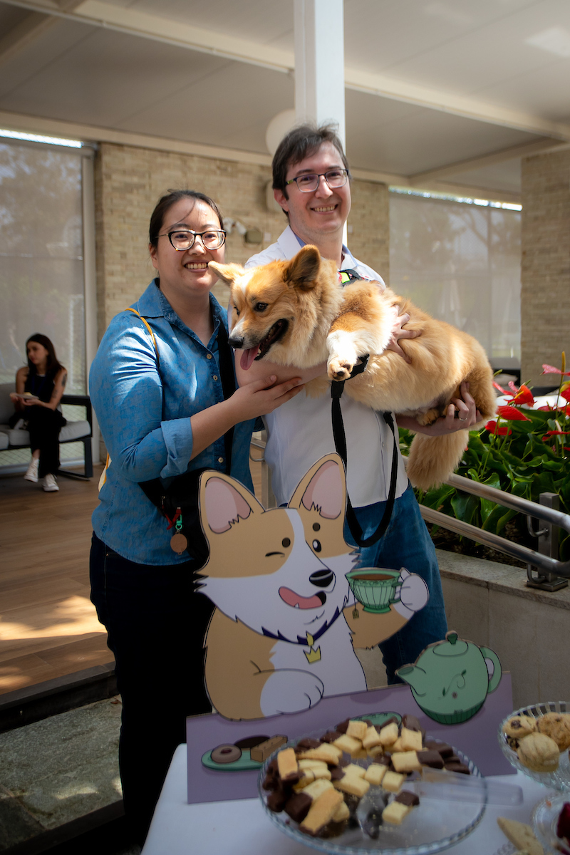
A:
[[[210,262],[214,272],[231,287],[230,344],[243,350],[242,368],[250,368],[271,351],[273,359],[297,351],[311,339],[320,320],[317,286],[321,260],[314,246],[305,246],[291,261],[275,261],[244,270],[238,264]],[[334,265],[333,265],[334,267]],[[333,271],[337,278],[336,268]]]

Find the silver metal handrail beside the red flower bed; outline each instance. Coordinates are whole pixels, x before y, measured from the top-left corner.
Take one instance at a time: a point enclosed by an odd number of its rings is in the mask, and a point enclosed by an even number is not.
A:
[[[520,498],[520,496],[513,496],[512,493],[497,490],[496,487],[489,486],[488,484],[479,484],[479,481],[471,481],[462,475],[450,475],[444,481],[444,484],[454,486],[463,492],[473,493],[474,496],[487,498],[504,508],[518,510],[520,513],[526,514],[526,516],[534,516],[540,520],[545,520],[570,532],[570,516],[563,514],[561,510],[545,508],[543,504],[530,502],[527,498]],[[522,546],[518,543],[513,543],[512,540],[506,540],[506,538],[501,537],[499,534],[486,532],[485,529],[472,526],[469,522],[455,519],[455,516],[448,516],[447,514],[442,514],[439,510],[427,508],[425,504],[420,504],[420,512],[426,522],[432,522],[442,528],[449,528],[455,534],[462,534],[464,537],[468,537],[469,540],[476,540],[477,543],[490,546],[491,549],[497,549],[514,558],[519,558],[520,561],[533,564],[546,573],[570,577],[570,561],[558,561],[534,549],[529,549],[528,546]]]

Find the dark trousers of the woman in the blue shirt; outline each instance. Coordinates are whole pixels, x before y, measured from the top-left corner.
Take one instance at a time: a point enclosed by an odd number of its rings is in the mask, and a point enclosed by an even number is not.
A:
[[[135,840],[148,831],[186,716],[211,712],[203,640],[214,609],[194,591],[194,562],[151,567],[93,534],[91,600],[109,633],[122,699],[120,780]]]

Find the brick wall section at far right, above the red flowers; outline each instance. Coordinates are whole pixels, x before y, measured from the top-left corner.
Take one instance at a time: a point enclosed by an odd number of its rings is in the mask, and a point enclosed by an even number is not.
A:
[[[570,150],[522,160],[521,377],[570,361]]]

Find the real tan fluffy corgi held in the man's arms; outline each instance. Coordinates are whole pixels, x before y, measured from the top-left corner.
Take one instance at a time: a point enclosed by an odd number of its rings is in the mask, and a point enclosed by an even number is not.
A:
[[[242,350],[249,369],[265,357],[273,363],[310,368],[327,362],[328,377],[312,380],[307,393],[322,395],[328,380],[348,380],[364,354],[367,369],[344,387],[350,398],[373,410],[413,416],[428,425],[444,416],[463,380],[470,384],[483,422],[495,413],[492,369],[476,339],[436,321],[390,288],[378,283],[339,284],[334,262],[315,246],[304,246],[291,261],[274,261],[244,270],[238,264],[209,262],[231,288],[230,344]],[[407,329],[421,334],[399,344],[410,363],[386,347],[394,311],[408,312]],[[481,423],[483,423],[481,422]],[[427,490],[457,468],[468,431],[429,437],[417,433],[408,456],[408,477]]]

